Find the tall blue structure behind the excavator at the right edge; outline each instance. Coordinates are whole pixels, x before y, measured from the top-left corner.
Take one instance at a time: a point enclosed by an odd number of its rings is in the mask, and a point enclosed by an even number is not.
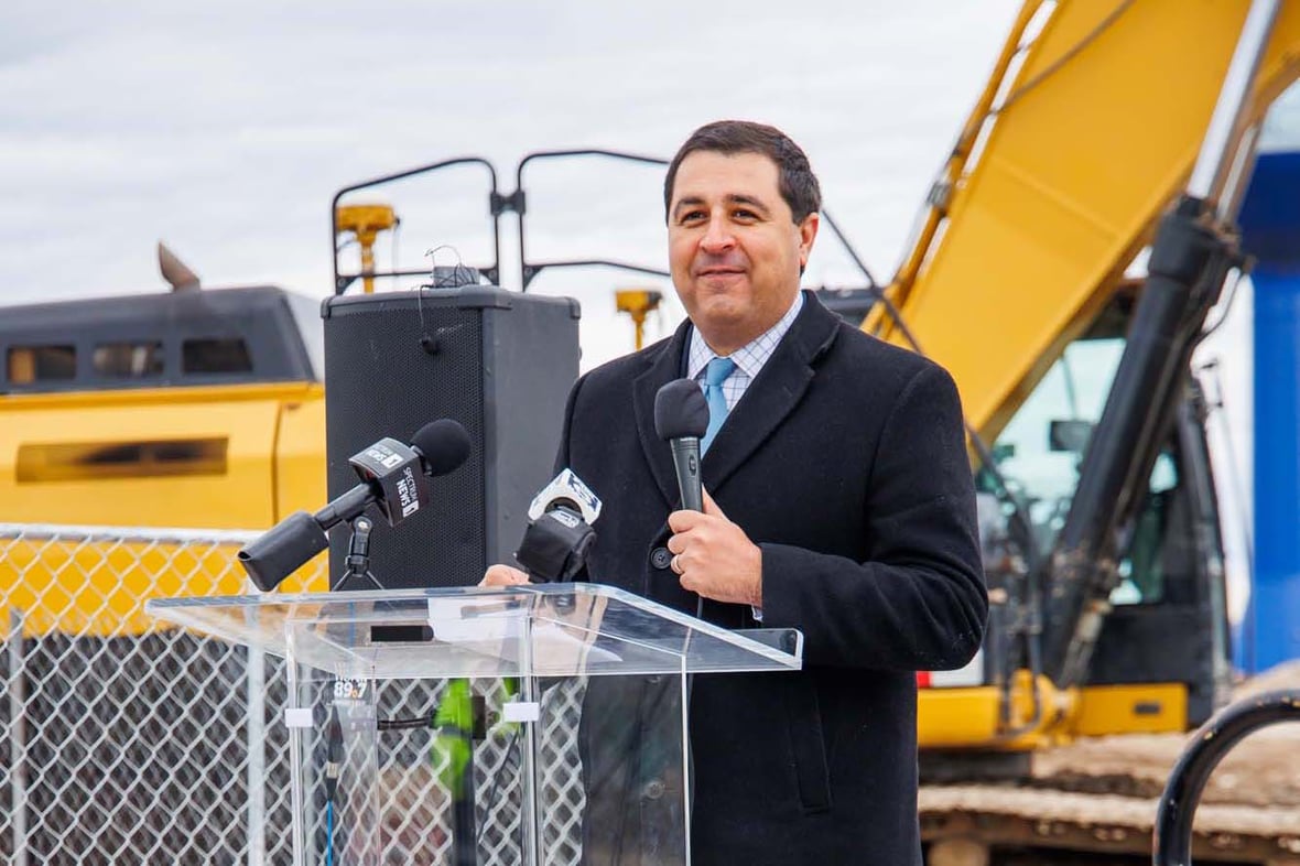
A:
[[[1262,153],[1239,217],[1256,257],[1254,568],[1238,664],[1300,658],[1300,153]]]

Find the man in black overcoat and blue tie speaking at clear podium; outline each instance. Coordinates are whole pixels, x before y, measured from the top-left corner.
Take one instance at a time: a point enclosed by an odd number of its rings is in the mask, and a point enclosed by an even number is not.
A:
[[[693,862],[919,863],[915,672],[966,664],[988,612],[957,389],[800,291],[820,192],[779,130],[701,127],[664,205],[689,320],[569,395],[558,464],[604,501],[588,575],[805,638],[797,674],[696,676]],[[712,407],[702,514],[654,426],[681,377]]]

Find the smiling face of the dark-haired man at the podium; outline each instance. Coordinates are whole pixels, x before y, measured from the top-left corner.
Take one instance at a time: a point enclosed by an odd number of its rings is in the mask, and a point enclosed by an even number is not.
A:
[[[728,355],[794,303],[818,215],[796,225],[760,153],[696,151],[677,166],[668,209],[672,282],[710,348]]]

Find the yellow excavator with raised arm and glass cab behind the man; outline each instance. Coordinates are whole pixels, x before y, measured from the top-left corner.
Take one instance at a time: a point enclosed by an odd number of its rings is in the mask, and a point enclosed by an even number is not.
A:
[[[1244,269],[1253,142],[1297,72],[1297,4],[1022,8],[863,322],[953,372],[996,537],[989,641],[971,668],[923,677],[923,748],[1023,755],[1183,731],[1223,703],[1191,354]],[[1139,256],[1147,276],[1126,278]]]

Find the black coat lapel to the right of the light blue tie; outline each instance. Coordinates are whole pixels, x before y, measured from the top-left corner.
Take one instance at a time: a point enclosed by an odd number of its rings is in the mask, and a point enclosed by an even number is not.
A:
[[[705,489],[710,494],[715,494],[798,406],[838,325],[838,316],[823,307],[812,293],[803,293],[803,309],[763,364],[758,378],[745,389],[701,462]],[[668,469],[672,469],[671,458]],[[675,476],[670,475],[670,480],[675,481]]]

